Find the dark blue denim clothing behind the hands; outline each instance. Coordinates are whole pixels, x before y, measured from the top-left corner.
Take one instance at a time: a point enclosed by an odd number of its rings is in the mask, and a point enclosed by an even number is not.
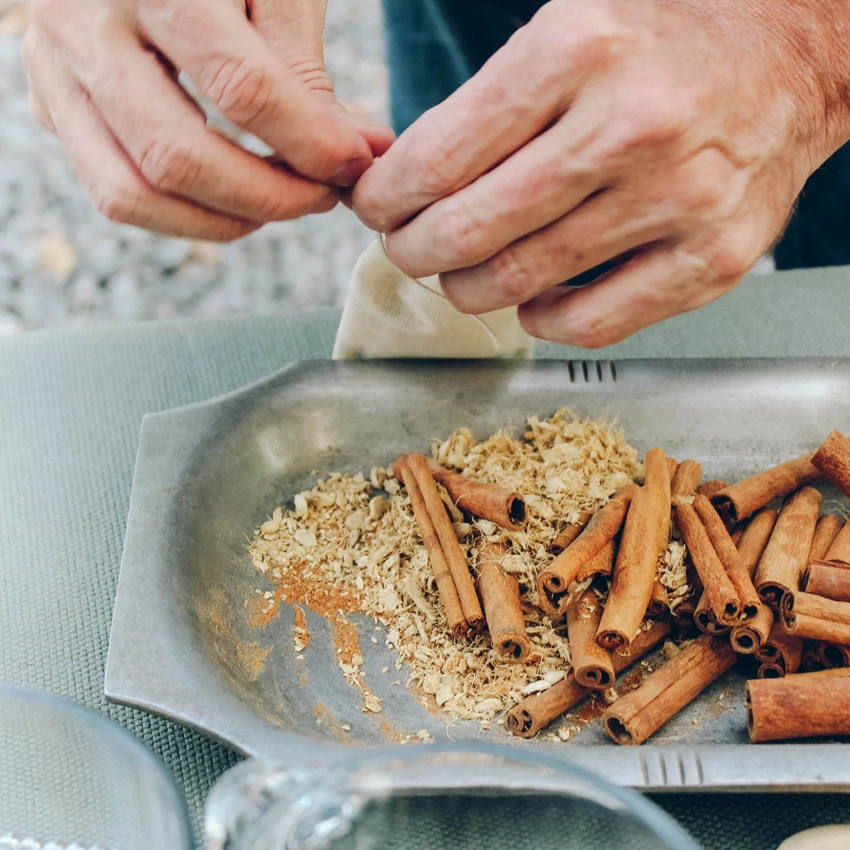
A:
[[[397,133],[472,77],[543,5],[539,0],[382,3]],[[809,178],[774,258],[779,269],[850,264],[850,145]]]

